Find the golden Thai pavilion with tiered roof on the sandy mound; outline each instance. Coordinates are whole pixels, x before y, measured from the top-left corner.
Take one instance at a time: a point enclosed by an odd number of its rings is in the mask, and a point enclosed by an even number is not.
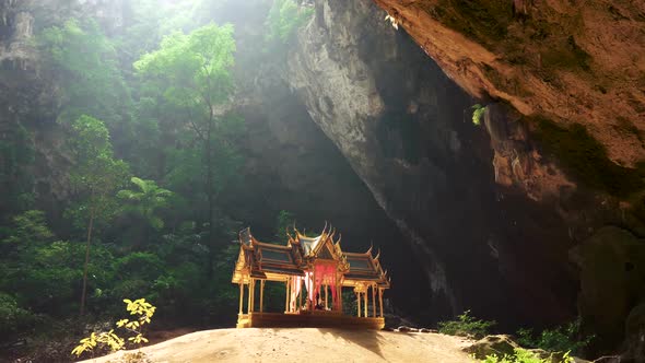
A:
[[[336,231],[327,225],[316,237],[293,230],[294,235],[288,232],[286,246],[259,242],[250,229],[239,233],[239,255],[232,279],[239,285],[237,328],[383,329],[383,293],[389,289],[390,279],[378,260],[380,253],[372,256],[372,247],[364,254],[343,251],[340,236],[335,241]],[[265,312],[268,281],[284,284],[284,313]],[[343,312],[343,294],[348,290],[355,296],[355,312]]]

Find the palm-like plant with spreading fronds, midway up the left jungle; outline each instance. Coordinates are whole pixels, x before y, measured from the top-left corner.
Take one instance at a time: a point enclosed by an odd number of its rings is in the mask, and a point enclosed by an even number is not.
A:
[[[143,216],[153,229],[163,229],[164,221],[155,214],[155,211],[167,206],[167,199],[173,192],[160,188],[154,180],[143,180],[133,176],[130,182],[138,187],[138,190],[119,190],[117,197],[129,201],[132,204],[131,209]]]

